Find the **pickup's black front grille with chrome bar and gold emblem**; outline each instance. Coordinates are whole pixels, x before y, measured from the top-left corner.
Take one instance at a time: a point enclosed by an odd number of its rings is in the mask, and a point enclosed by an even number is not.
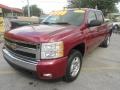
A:
[[[10,53],[17,57],[31,61],[37,61],[40,59],[39,45],[26,44],[5,39],[5,47]]]

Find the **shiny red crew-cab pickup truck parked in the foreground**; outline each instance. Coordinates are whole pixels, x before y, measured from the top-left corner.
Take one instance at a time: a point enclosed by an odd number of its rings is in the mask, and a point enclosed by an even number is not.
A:
[[[77,78],[82,58],[94,48],[108,47],[110,28],[96,9],[53,12],[39,26],[5,32],[7,62],[34,71],[41,79]]]

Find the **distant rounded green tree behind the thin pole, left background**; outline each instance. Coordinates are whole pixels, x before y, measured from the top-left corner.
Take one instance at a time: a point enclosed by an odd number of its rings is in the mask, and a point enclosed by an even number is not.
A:
[[[23,7],[24,15],[28,16],[28,6]],[[42,10],[37,7],[37,5],[30,6],[30,14],[31,16],[40,16],[42,14]]]

